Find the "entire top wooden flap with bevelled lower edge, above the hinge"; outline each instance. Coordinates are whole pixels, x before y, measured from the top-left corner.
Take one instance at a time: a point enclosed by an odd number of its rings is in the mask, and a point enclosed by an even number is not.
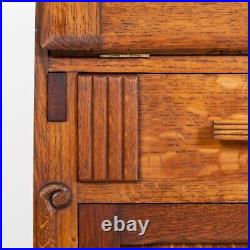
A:
[[[247,53],[247,18],[239,2],[44,3],[41,42],[92,55]]]

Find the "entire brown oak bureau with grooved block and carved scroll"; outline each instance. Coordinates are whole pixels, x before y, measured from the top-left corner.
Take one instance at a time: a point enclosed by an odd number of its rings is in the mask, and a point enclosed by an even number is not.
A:
[[[240,2],[37,3],[35,247],[247,246],[247,26]]]

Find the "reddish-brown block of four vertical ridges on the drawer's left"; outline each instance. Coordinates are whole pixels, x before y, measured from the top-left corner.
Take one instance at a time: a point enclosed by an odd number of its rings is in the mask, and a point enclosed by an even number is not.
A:
[[[136,181],[137,77],[80,76],[78,133],[80,181]]]

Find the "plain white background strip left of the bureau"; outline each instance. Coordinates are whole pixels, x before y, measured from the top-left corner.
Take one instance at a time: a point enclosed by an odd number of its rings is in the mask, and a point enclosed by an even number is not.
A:
[[[31,248],[35,3],[2,3],[3,247]]]

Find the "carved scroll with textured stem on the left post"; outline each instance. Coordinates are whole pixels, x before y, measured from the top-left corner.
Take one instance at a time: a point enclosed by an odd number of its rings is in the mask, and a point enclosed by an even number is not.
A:
[[[56,212],[71,202],[71,191],[62,183],[51,183],[40,190],[39,247],[56,247]]]

